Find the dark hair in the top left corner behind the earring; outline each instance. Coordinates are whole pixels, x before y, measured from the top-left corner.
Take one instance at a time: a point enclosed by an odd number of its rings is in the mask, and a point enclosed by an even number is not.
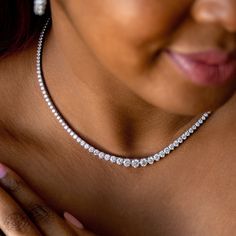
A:
[[[26,47],[50,14],[49,3],[43,16],[35,16],[33,0],[0,0],[0,58]]]

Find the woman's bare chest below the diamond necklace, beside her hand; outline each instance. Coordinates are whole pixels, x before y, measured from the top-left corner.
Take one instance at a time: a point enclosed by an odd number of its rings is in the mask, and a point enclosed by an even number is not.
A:
[[[94,232],[232,235],[236,230],[233,158],[183,147],[152,166],[129,169],[70,143],[29,140],[5,139],[1,161],[59,214],[71,212]]]

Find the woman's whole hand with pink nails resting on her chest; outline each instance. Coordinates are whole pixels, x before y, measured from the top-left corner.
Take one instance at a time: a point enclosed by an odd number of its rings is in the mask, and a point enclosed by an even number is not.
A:
[[[10,168],[0,163],[0,235],[92,236],[72,215],[60,217]]]

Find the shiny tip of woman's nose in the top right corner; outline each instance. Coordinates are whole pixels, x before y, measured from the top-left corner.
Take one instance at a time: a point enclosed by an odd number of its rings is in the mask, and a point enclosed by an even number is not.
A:
[[[227,31],[236,32],[235,0],[196,1],[192,16],[198,22],[220,24]]]

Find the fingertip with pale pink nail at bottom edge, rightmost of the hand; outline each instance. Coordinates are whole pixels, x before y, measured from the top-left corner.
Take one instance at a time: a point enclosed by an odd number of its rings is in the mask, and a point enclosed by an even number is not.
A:
[[[73,215],[71,215],[69,212],[64,212],[63,216],[64,216],[64,219],[71,226],[71,228],[76,233],[78,233],[78,235],[81,235],[81,236],[95,236],[95,234],[92,234],[91,232],[85,230],[83,224],[78,219],[76,219]]]

